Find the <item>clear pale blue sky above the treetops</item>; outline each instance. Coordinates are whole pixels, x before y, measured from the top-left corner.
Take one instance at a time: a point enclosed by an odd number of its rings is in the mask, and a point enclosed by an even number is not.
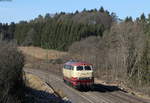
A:
[[[0,0],[0,22],[29,21],[39,14],[44,16],[46,13],[75,12],[84,8],[99,9],[101,6],[115,12],[120,19],[150,13],[150,0]]]

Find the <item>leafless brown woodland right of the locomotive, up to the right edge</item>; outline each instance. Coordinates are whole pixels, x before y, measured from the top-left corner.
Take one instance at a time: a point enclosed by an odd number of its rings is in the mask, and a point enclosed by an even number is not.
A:
[[[102,37],[74,42],[69,52],[72,58],[93,63],[96,77],[150,95],[150,15],[115,22]]]

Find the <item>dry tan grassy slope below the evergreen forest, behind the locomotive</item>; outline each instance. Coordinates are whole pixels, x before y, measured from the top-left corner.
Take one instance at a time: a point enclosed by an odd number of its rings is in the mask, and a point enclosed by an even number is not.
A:
[[[18,47],[25,55],[25,68],[49,70],[51,72],[60,73],[61,64],[53,64],[57,60],[64,60],[68,55],[67,52],[60,52],[56,50],[47,50],[38,47]],[[48,54],[48,58],[46,58]],[[52,60],[52,61],[51,61]],[[55,69],[53,69],[55,68]]]

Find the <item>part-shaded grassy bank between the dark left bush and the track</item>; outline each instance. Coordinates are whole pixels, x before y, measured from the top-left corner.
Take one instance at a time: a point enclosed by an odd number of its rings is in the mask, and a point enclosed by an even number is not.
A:
[[[26,103],[60,103],[61,100],[54,90],[49,87],[43,80],[39,77],[25,73],[26,77]]]

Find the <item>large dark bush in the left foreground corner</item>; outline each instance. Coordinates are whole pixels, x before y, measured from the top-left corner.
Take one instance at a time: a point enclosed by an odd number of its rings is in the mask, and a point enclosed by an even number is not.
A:
[[[0,42],[0,103],[22,103],[24,56],[13,43]]]

